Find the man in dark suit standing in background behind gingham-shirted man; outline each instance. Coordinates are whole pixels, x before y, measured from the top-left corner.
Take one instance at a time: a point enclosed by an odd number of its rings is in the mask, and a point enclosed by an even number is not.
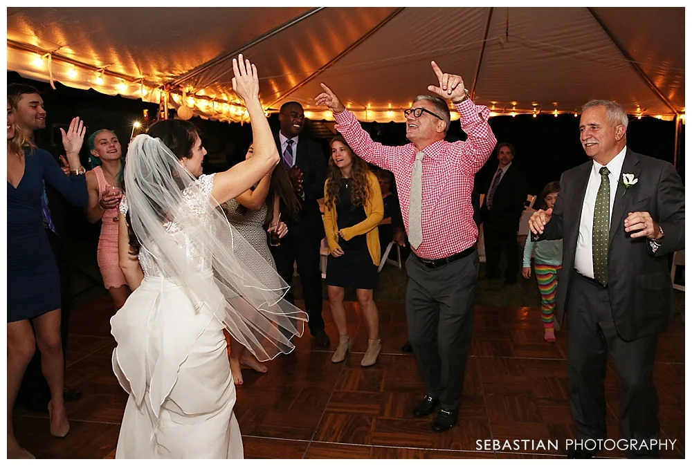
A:
[[[486,257],[486,277],[500,277],[500,255],[507,256],[504,283],[516,283],[519,274],[519,246],[517,232],[526,201],[524,174],[512,164],[515,150],[509,142],[498,145],[500,166],[480,209]]]

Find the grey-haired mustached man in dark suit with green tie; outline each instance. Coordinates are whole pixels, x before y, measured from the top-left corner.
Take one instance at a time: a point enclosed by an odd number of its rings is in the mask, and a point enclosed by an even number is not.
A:
[[[592,160],[565,171],[554,209],[535,212],[529,227],[536,241],[563,239],[557,320],[567,313],[577,437],[607,438],[603,378],[610,352],[622,384],[621,436],[640,445],[659,438],[653,369],[658,336],[673,313],[667,255],[684,249],[685,205],[673,165],[628,149],[627,124],[615,102],[585,104],[579,131]],[[592,443],[568,456],[594,456]]]

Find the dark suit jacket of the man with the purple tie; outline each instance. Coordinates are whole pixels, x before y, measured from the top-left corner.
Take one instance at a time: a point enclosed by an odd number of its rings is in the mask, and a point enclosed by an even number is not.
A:
[[[274,135],[274,141],[282,158],[279,163],[283,163],[279,133]],[[325,152],[317,142],[301,135],[298,138],[298,147],[295,149],[295,166],[300,168],[303,174],[305,199],[298,197],[302,205],[300,221],[293,224],[286,222],[289,227],[289,234],[294,237],[297,237],[296,235],[315,234],[322,239],[325,237],[325,224],[322,222],[320,205],[317,201],[325,197],[325,180],[327,179]]]

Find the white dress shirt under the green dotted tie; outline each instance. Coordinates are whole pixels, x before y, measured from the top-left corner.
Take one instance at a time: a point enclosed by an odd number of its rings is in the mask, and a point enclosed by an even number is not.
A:
[[[617,193],[617,185],[620,180],[620,171],[622,171],[622,162],[625,161],[625,153],[627,146],[623,147],[620,153],[615,156],[608,165],[610,174],[610,215],[612,216],[612,204],[615,201]],[[594,160],[594,165],[589,176],[589,184],[586,188],[584,196],[584,207],[581,211],[581,222],[579,223],[579,238],[576,240],[576,255],[574,257],[574,268],[584,277],[594,278],[594,255],[593,255],[593,227],[594,227],[594,206],[596,205],[596,197],[601,187],[601,165]]]

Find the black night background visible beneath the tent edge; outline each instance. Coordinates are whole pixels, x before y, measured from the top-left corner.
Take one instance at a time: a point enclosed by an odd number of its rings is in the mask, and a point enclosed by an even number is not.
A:
[[[35,134],[39,147],[57,156],[62,153],[62,138],[58,128],[69,126],[75,116],[84,120],[88,131],[82,147],[82,164],[88,165],[88,148],[86,139],[96,129],[107,128],[116,132],[120,138],[123,151],[127,150],[127,141],[132,131],[132,122],[143,121],[143,111],[149,115],[149,123],[156,119],[157,104],[141,100],[132,100],[119,96],[110,96],[93,90],[82,91],[55,83],[56,89],[46,82],[26,80],[17,73],[8,72],[8,83],[24,82],[38,88],[42,93],[48,113],[46,129]],[[608,97],[608,96],[604,96]],[[249,124],[228,124],[201,118],[191,120],[200,129],[203,144],[208,151],[204,162],[204,171],[212,173],[227,169],[244,160],[245,152],[252,139],[252,128]],[[269,123],[274,132],[279,129],[278,117],[272,114]],[[517,153],[513,163],[519,165],[527,175],[529,192],[539,194],[546,183],[559,180],[566,169],[570,169],[587,160],[579,143],[579,118],[574,115],[531,115],[498,116],[490,120],[490,125],[498,142],[511,142]],[[330,124],[324,122],[306,122],[304,134],[318,142],[328,156],[329,138],[327,129]],[[332,126],[333,127],[333,126]],[[385,145],[406,144],[406,127],[403,123],[365,123],[363,127],[372,138]],[[673,162],[675,147],[675,123],[657,118],[630,118],[627,131],[628,147],[639,153]],[[448,133],[449,140],[465,139],[459,122],[452,122]],[[680,157],[678,171],[684,181],[684,125],[680,135]],[[498,159],[493,153],[486,165],[477,174],[477,189],[486,192],[493,173],[498,166]],[[81,209],[68,207],[65,218],[69,225],[71,250],[75,252],[73,267],[81,272],[93,284],[100,282],[98,268],[95,268],[96,245],[100,232],[100,222],[90,224]],[[90,265],[84,265],[90,264]],[[93,267],[92,267],[93,265]]]

